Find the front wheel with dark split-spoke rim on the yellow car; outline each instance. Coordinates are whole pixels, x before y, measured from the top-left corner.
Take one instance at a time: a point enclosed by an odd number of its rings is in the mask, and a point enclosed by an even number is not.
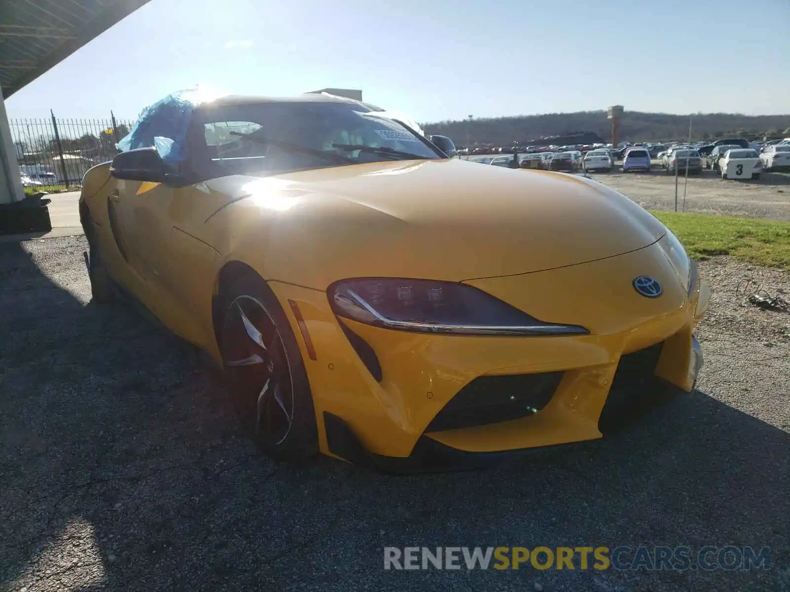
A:
[[[274,459],[313,458],[318,454],[313,397],[280,302],[250,273],[223,290],[220,311],[223,368],[244,433]]]

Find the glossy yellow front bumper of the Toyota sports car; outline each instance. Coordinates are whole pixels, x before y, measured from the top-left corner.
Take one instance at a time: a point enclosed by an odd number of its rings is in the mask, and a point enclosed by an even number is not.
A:
[[[662,298],[639,296],[630,281],[612,285],[613,278],[645,272],[664,285]],[[322,451],[397,471],[485,465],[537,448],[596,440],[602,437],[604,408],[615,404],[621,388],[626,403],[639,395],[651,399],[653,386],[659,393],[689,392],[702,365],[692,330],[707,308],[709,290],[700,283],[688,297],[677,277],[659,242],[588,264],[468,281],[537,318],[581,324],[591,332],[551,337],[427,335],[351,320],[341,324],[325,292],[278,282],[270,286],[303,348]],[[577,285],[585,287],[583,298],[570,289]],[[299,307],[316,359],[299,338],[289,300]],[[646,382],[618,376],[624,360],[645,357],[648,350],[655,359],[642,365]],[[506,410],[491,416],[501,421],[482,425],[468,424],[468,414],[448,417],[450,402],[461,393],[503,377],[512,379],[505,382],[512,383],[513,404],[532,407],[529,413]],[[547,397],[540,403],[521,401],[536,378],[549,389]],[[505,389],[477,393],[483,399],[470,404],[498,397],[504,405]]]

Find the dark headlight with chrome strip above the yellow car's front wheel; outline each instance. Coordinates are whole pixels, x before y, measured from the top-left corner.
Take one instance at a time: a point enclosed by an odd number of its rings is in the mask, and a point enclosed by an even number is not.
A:
[[[339,317],[401,331],[462,335],[579,335],[546,323],[463,283],[428,279],[347,279],[329,287]]]

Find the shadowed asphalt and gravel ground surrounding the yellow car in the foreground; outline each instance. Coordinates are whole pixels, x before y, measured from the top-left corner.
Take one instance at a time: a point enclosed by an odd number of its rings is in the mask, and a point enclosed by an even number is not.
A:
[[[625,432],[394,478],[258,455],[201,354],[88,304],[85,248],[0,245],[0,590],[790,590],[790,314],[739,293],[787,274],[703,262],[699,390]],[[386,545],[730,544],[772,568],[382,569]]]

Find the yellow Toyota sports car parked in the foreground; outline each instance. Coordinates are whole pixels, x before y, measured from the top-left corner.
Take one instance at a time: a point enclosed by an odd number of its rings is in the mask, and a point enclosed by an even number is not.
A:
[[[270,455],[485,465],[693,390],[709,289],[614,190],[452,159],[351,99],[179,109],[85,175],[93,298],[211,354]]]

